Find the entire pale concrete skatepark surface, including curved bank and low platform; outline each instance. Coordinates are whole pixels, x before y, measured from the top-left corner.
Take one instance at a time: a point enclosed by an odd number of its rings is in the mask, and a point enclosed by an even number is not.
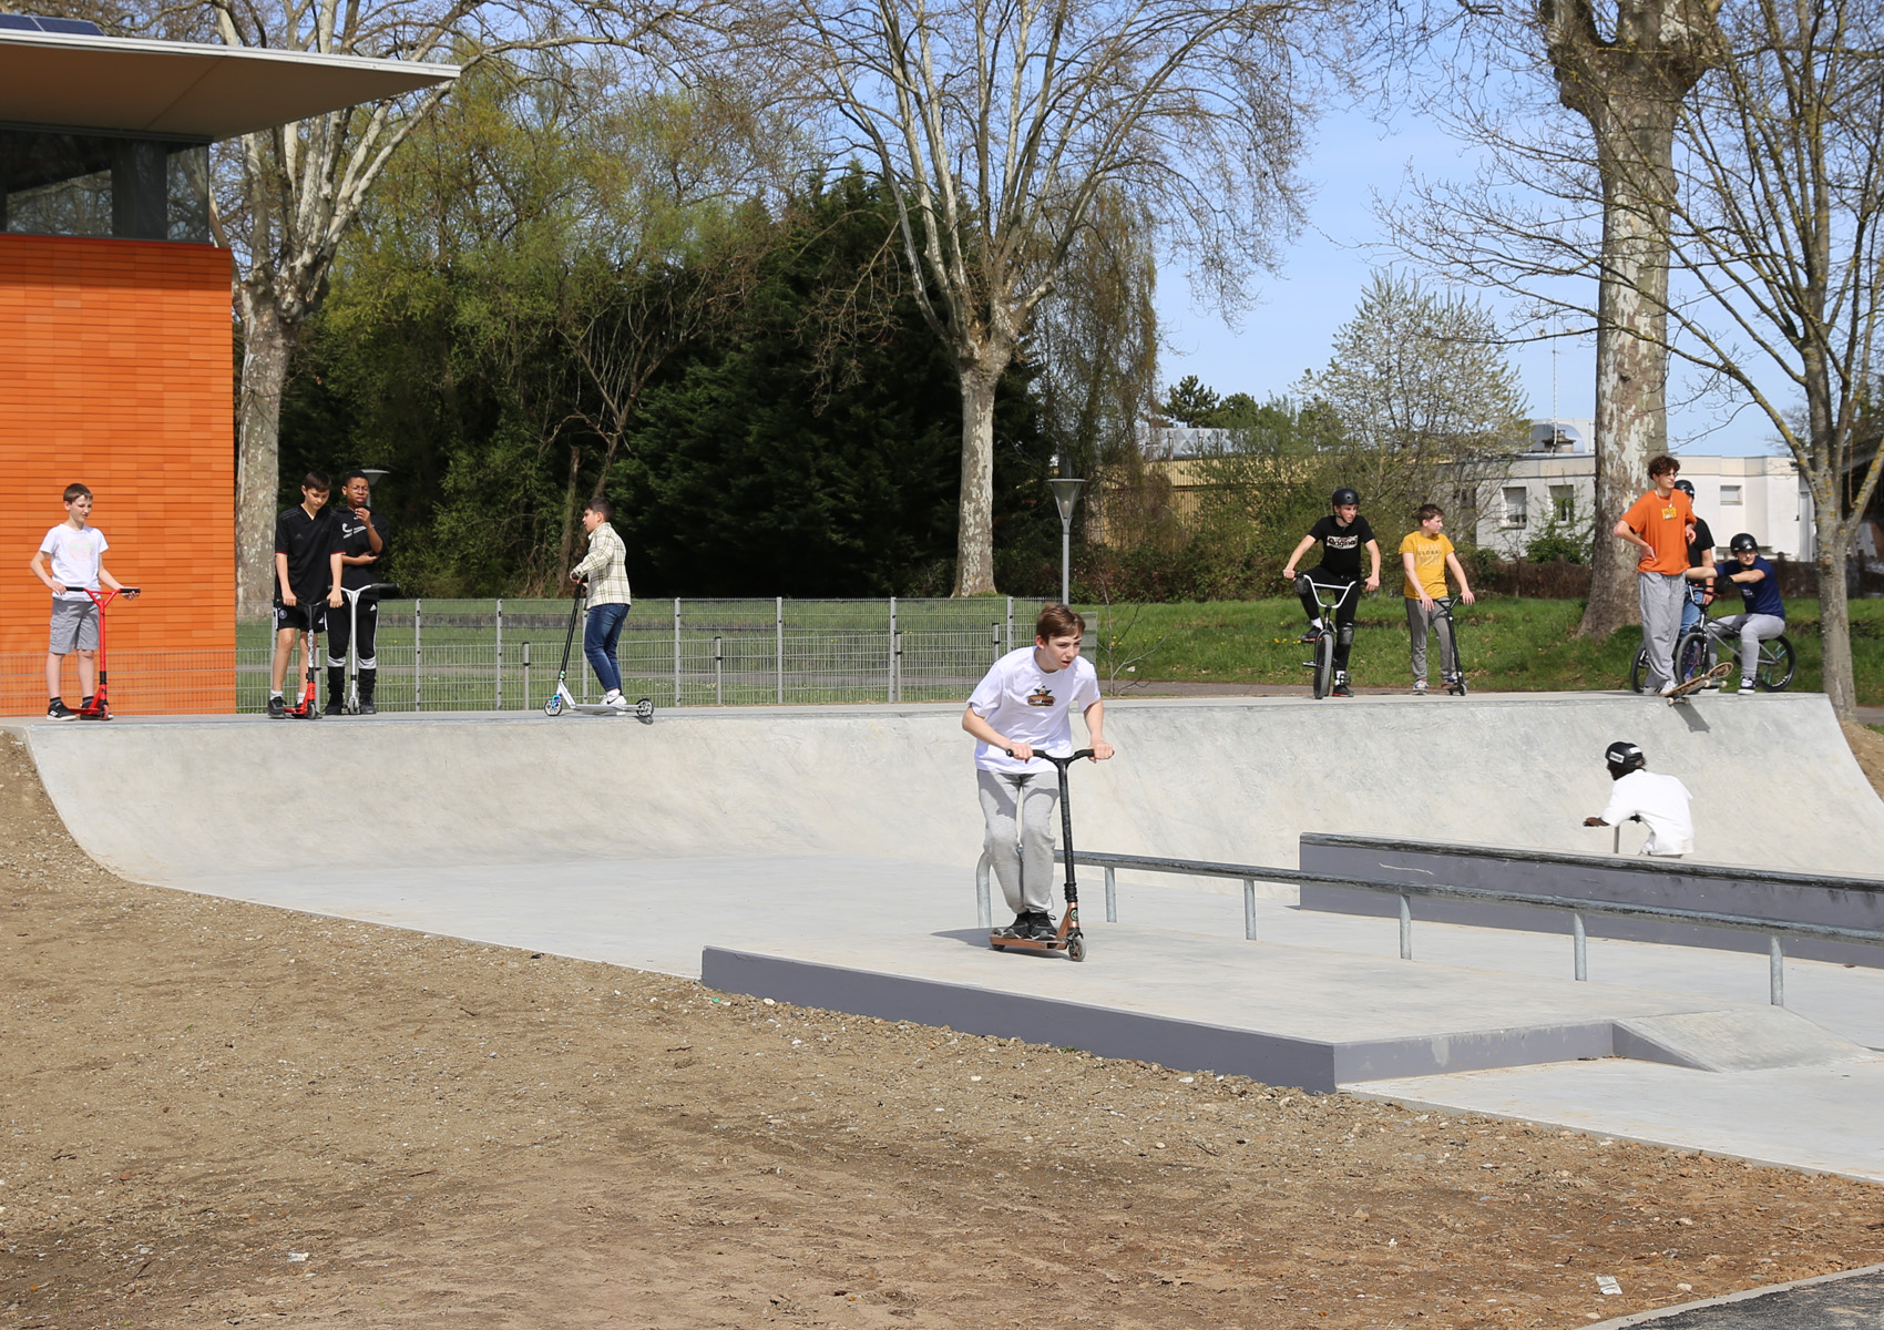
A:
[[[733,1004],[710,1010],[752,1010],[759,1027],[780,1023],[771,1012],[804,1014],[788,1025],[835,1014],[820,1038],[867,1015],[893,1038],[940,1030],[931,1049],[970,1036],[1083,1049],[1095,1070],[1153,1068],[1183,1093],[1247,1076],[1281,1087],[1270,1095],[1285,1106],[1300,1095],[1287,1087],[1340,1089],[1330,1102],[1353,1113],[1375,1102],[1405,1121],[1511,1121],[1515,1140],[1645,1142],[1884,1179],[1884,966],[1788,955],[1778,1008],[1763,936],[1752,949],[1741,934],[1718,934],[1737,949],[1618,940],[1592,916],[1579,981],[1560,917],[1471,927],[1437,921],[1424,897],[1402,959],[1394,917],[1300,908],[1291,876],[1304,836],[1616,863],[1613,833],[1581,818],[1607,797],[1603,746],[1628,735],[1694,791],[1697,861],[1750,878],[1863,878],[1884,804],[1822,697],[1110,703],[1117,759],[1072,772],[1080,852],[1274,878],[1253,884],[1249,940],[1234,878],[1121,868],[1110,923],[1104,874],[1081,867],[1083,965],[999,955],[976,927],[982,827],[955,705],[661,710],[650,725],[382,714],[8,729],[96,865],[207,910],[254,902],[313,929],[392,929],[358,934],[369,953],[465,940],[471,957],[497,948],[703,980],[691,993]],[[1622,829],[1624,861],[1639,835]],[[1858,887],[1844,893],[1869,900]],[[648,1000],[686,1000],[650,981]],[[414,1000],[430,998],[396,998]],[[865,1076],[852,1093],[882,1085],[882,1098],[891,1081]],[[398,1251],[428,1260],[418,1238]],[[1681,1302],[1647,1287],[1639,1272],[1628,1281],[1647,1306]]]

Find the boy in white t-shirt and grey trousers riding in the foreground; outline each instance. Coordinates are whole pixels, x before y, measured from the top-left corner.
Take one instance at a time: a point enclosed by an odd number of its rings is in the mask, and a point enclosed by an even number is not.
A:
[[[1112,757],[1098,673],[1080,657],[1081,637],[1083,618],[1066,605],[1048,605],[1034,622],[1034,644],[995,661],[961,716],[961,727],[982,740],[974,767],[987,819],[987,859],[1014,910],[1014,923],[999,933],[1014,938],[1053,936],[1059,772],[1034,757],[1034,750],[1072,754],[1072,708],[1080,706],[1093,761]]]

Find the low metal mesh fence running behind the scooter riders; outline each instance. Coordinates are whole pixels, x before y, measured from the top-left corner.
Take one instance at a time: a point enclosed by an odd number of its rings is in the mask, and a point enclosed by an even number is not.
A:
[[[622,689],[661,706],[916,703],[965,699],[987,667],[1032,641],[1036,601],[639,601],[618,659]],[[556,691],[569,601],[382,601],[375,656],[382,712],[529,710]],[[569,691],[601,701],[582,656],[584,614],[569,646]],[[273,631],[237,625],[234,652],[113,652],[121,714],[258,712],[268,705]],[[326,641],[317,659],[326,697]],[[300,686],[300,644],[284,691]],[[0,656],[0,708],[45,706],[45,656]],[[68,697],[75,688],[66,665]]]

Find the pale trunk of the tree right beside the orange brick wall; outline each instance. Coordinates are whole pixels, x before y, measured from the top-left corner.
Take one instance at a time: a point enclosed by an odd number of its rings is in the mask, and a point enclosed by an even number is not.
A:
[[[275,505],[281,495],[281,390],[294,337],[273,301],[243,301],[241,392],[236,407],[236,618],[275,599]]]

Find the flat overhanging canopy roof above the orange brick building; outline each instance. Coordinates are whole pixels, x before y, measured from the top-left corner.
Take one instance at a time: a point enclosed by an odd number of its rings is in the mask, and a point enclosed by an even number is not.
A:
[[[47,24],[0,15],[0,121],[226,139],[458,77],[452,64],[143,41]]]

